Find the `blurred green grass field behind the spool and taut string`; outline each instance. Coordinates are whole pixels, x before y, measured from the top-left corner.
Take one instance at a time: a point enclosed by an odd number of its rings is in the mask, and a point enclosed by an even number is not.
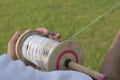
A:
[[[17,30],[45,26],[69,39],[119,0],[0,0],[0,53]],[[84,50],[85,66],[99,70],[120,28],[120,6],[72,40]]]

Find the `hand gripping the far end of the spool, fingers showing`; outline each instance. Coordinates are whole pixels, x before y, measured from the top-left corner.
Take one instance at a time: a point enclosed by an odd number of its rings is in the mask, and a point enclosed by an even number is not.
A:
[[[59,39],[61,37],[59,33],[50,32],[48,29],[44,27],[37,28],[36,31],[39,31],[41,34],[52,39]],[[18,59],[15,52],[15,45],[22,33],[23,31],[17,31],[8,42],[8,54],[11,56],[13,60]]]

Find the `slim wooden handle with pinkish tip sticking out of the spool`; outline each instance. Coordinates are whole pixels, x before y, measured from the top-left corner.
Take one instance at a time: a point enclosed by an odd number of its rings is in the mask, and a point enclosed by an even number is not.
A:
[[[82,65],[79,65],[79,64],[77,64],[77,63],[75,63],[73,61],[69,62],[68,66],[71,69],[86,73],[86,74],[90,75],[91,77],[93,77],[96,80],[106,80],[105,75],[103,75],[101,73],[98,73],[96,71],[93,71],[91,69],[88,69],[88,68],[86,68],[86,67],[84,67]]]

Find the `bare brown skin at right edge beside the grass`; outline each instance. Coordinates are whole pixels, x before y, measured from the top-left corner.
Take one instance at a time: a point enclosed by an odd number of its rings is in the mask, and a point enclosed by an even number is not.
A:
[[[108,76],[108,80],[120,80],[120,30],[117,32],[100,72]]]

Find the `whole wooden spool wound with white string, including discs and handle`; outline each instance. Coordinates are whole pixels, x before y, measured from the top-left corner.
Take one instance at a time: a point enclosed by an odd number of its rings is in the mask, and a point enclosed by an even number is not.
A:
[[[58,42],[37,31],[23,33],[16,43],[16,55],[26,64],[33,63],[43,70],[74,69],[93,77],[106,80],[106,76],[83,65],[83,51],[72,42]]]

